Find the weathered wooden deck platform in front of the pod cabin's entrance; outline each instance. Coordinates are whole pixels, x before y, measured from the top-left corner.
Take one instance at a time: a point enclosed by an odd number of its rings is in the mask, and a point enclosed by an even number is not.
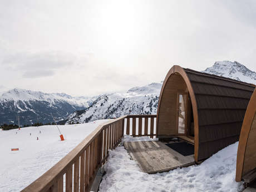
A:
[[[195,164],[194,155],[183,156],[160,141],[124,142],[124,146],[145,173],[161,173]]]

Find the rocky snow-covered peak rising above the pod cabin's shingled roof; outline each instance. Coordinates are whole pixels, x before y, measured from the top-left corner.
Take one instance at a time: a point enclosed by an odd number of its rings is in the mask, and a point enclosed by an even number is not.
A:
[[[234,80],[256,85],[256,72],[250,71],[237,61],[216,61],[213,66],[206,68],[206,70],[202,72],[229,77]]]

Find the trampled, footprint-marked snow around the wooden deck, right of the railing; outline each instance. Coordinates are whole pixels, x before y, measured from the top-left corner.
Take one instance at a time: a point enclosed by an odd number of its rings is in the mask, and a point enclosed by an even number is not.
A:
[[[145,138],[142,140],[145,141]],[[109,151],[109,158],[104,165],[106,174],[101,181],[100,192],[240,191],[243,189],[243,183],[235,182],[237,147],[238,142],[229,145],[200,165],[175,169],[167,173],[146,174],[140,170],[136,161],[130,159],[124,146],[119,146]]]

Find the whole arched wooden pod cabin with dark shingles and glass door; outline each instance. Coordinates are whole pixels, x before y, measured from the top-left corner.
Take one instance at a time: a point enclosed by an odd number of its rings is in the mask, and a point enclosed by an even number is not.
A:
[[[165,77],[157,108],[156,136],[194,144],[198,162],[239,140],[255,86],[173,66]]]

